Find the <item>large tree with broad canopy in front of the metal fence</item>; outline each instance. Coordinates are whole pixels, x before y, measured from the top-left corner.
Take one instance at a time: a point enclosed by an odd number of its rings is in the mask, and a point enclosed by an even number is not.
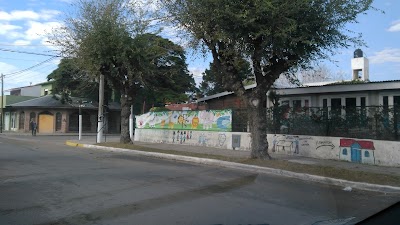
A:
[[[221,68],[225,88],[247,103],[251,156],[270,158],[266,92],[281,74],[323,59],[339,47],[361,45],[344,29],[372,0],[162,0],[194,43],[206,46]],[[257,87],[245,92],[237,63],[248,60]]]

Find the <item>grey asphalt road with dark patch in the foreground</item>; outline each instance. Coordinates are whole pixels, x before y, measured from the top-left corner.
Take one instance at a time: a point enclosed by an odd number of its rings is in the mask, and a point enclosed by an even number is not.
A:
[[[354,223],[400,200],[63,139],[0,137],[0,224]]]

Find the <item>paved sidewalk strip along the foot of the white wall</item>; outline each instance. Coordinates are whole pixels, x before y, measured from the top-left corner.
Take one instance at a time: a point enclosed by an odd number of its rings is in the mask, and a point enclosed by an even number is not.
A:
[[[71,141],[81,144],[95,144],[88,140],[84,141],[71,140]],[[118,141],[119,140],[117,140],[116,138],[110,138],[109,140],[107,140],[107,142],[118,142]],[[166,143],[135,142],[134,144],[137,146],[160,149],[164,151],[171,150],[171,151],[201,153],[201,154],[210,154],[210,155],[225,156],[225,157],[232,157],[239,159],[246,159],[250,157],[249,151],[242,151],[242,150],[229,150],[229,149],[220,149],[212,147],[166,144]],[[329,166],[334,168],[346,169],[350,171],[364,171],[364,172],[387,174],[400,177],[400,167],[386,167],[386,166],[376,166],[376,165],[368,165],[360,163],[351,163],[339,160],[316,159],[298,155],[275,154],[272,152],[270,152],[270,155],[273,159],[289,161],[291,163]]]

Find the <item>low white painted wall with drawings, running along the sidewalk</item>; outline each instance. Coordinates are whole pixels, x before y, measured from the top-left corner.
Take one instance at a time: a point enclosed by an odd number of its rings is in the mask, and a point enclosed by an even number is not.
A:
[[[249,151],[250,133],[135,129],[135,141]],[[382,166],[400,166],[400,143],[340,137],[268,135],[270,152]]]

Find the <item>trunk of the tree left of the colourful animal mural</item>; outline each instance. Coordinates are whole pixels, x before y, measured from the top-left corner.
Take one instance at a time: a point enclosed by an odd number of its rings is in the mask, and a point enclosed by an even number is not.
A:
[[[131,114],[132,97],[121,95],[121,137],[120,143],[132,143],[129,136],[129,116]]]

